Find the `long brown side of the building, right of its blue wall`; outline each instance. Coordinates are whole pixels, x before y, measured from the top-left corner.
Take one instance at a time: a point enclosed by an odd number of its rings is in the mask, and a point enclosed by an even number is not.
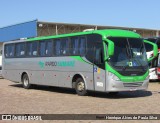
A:
[[[58,34],[64,34],[64,33],[80,32],[85,29],[96,29],[96,30],[124,29],[124,30],[135,31],[135,32],[139,33],[142,37],[160,36],[160,30],[155,30],[155,29],[37,21],[37,36],[58,35]]]

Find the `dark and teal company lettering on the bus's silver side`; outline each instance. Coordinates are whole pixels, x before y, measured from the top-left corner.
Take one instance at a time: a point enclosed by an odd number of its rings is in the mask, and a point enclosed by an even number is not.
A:
[[[45,66],[74,67],[75,61],[47,61]]]

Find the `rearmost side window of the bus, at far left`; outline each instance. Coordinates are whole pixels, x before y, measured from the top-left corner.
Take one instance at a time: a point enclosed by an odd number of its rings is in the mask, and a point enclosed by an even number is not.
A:
[[[14,44],[6,44],[5,45],[5,56],[6,57],[14,57]]]

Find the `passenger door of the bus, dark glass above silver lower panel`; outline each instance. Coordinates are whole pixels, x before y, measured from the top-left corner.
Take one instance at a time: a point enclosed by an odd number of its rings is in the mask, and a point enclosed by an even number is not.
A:
[[[106,76],[102,43],[96,43],[94,46],[93,77],[95,91],[105,91]]]

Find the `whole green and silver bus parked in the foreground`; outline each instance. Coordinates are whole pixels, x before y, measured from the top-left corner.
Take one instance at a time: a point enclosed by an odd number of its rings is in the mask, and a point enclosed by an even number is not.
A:
[[[36,37],[4,43],[5,79],[31,85],[118,93],[146,90],[149,82],[144,43],[157,45],[132,31],[108,29]]]

